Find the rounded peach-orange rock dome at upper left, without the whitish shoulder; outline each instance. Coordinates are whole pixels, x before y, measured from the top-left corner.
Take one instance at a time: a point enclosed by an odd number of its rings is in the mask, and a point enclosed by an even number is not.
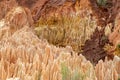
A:
[[[8,14],[5,16],[5,23],[8,23],[13,28],[21,29],[24,26],[32,26],[33,19],[29,9],[27,8],[13,8]]]

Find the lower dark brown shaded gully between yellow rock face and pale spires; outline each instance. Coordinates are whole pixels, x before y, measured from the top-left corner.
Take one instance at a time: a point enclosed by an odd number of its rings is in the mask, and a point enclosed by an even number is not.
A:
[[[98,28],[96,28],[95,32],[91,36],[91,39],[87,40],[83,47],[82,54],[94,65],[97,64],[100,59],[104,60],[107,56],[103,47],[108,40],[107,38],[103,39],[103,37],[105,37],[103,31],[104,30],[99,31]]]

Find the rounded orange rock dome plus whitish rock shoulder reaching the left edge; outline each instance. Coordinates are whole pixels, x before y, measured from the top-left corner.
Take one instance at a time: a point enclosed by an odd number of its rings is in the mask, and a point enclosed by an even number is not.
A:
[[[15,31],[25,26],[32,27],[33,20],[28,9],[16,7],[13,8],[10,12],[8,12],[5,18],[1,20],[1,24],[2,25],[0,25],[0,39],[3,39],[5,37],[9,37]]]

